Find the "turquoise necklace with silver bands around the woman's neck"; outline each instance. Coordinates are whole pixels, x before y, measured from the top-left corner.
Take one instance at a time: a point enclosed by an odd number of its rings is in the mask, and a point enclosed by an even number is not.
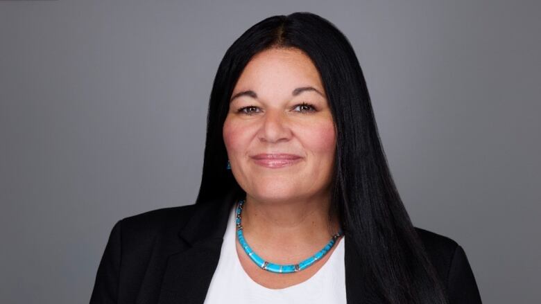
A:
[[[280,265],[268,262],[266,260],[263,260],[260,256],[257,256],[255,252],[248,246],[248,243],[244,239],[244,235],[242,233],[242,225],[241,225],[241,213],[242,213],[242,206],[244,204],[244,200],[241,199],[239,201],[239,206],[237,206],[237,237],[239,238],[239,242],[241,243],[242,248],[244,249],[244,252],[248,254],[250,259],[255,262],[255,264],[266,271],[271,271],[276,274],[290,274],[291,272],[297,272],[301,271],[302,269],[306,269],[310,265],[314,264],[316,260],[320,260],[323,258],[327,252],[334,246],[336,243],[336,240],[340,238],[341,235],[343,235],[342,231],[338,231],[338,233],[334,234],[332,236],[332,239],[321,249],[318,251],[314,256],[311,256],[310,258],[307,258],[306,260],[303,260],[302,262],[298,264],[291,264],[291,265]]]

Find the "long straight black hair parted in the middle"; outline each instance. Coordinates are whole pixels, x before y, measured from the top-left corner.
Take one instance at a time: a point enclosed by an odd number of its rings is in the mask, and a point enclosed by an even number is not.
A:
[[[298,48],[318,69],[336,127],[332,210],[357,251],[370,303],[447,303],[388,169],[366,81],[347,38],[309,12],[273,16],[246,30],[218,67],[207,116],[203,177],[196,204],[246,193],[226,170],[223,123],[250,59],[268,48]]]

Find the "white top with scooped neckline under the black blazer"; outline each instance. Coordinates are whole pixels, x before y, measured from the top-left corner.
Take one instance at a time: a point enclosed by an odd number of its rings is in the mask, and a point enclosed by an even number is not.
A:
[[[234,204],[223,236],[220,260],[210,283],[205,304],[281,304],[346,303],[344,239],[335,246],[325,265],[302,283],[282,289],[270,289],[256,283],[242,268],[237,255]],[[287,276],[287,274],[284,274]]]

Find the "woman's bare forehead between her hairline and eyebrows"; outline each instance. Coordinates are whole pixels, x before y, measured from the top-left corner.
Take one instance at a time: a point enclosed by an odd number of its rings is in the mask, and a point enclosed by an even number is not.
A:
[[[270,48],[257,53],[244,68],[234,92],[312,86],[323,91],[318,69],[310,57],[298,48]]]

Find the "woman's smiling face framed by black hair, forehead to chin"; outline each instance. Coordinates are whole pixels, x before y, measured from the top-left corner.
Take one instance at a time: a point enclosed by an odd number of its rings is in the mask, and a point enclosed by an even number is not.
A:
[[[318,70],[299,49],[252,57],[233,89],[223,139],[247,195],[272,201],[329,194],[334,123]]]

